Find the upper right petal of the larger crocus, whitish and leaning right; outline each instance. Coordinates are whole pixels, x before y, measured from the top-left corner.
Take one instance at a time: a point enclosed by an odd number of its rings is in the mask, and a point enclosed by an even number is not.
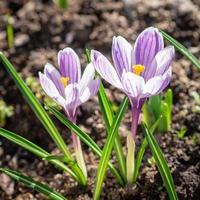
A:
[[[171,66],[172,60],[175,56],[175,49],[169,46],[157,53],[155,57],[156,62],[156,76],[164,74]]]

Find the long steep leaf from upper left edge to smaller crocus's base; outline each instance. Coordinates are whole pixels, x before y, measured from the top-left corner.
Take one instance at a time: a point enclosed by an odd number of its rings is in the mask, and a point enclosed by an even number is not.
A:
[[[38,99],[34,96],[32,91],[27,87],[25,82],[22,80],[22,78],[17,74],[15,68],[12,66],[12,64],[9,62],[9,60],[3,55],[2,52],[0,52],[0,63],[3,64],[5,69],[8,71],[12,79],[15,81],[15,84],[23,94],[25,100],[30,105],[34,113],[36,114],[37,118],[41,121],[45,129],[48,131],[58,148],[63,152],[63,154],[68,158],[72,159],[73,157],[70,154],[70,151],[65,144],[63,138],[61,137],[60,133],[58,132],[57,128],[55,127],[54,123],[50,119],[47,112],[44,110],[44,108],[39,103]],[[82,185],[86,185],[86,178],[83,175],[83,172],[81,171],[80,167],[75,164],[72,166],[72,170],[78,175],[79,177],[79,183]]]

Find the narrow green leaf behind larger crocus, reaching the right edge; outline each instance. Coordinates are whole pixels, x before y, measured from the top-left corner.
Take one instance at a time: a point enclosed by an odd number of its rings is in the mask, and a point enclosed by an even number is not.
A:
[[[183,54],[187,59],[189,59],[196,67],[197,69],[200,70],[200,61],[186,48],[184,47],[181,43],[179,43],[177,40],[175,40],[173,37],[168,35],[162,30],[159,30],[163,37],[170,42],[173,46],[176,47],[176,49]]]

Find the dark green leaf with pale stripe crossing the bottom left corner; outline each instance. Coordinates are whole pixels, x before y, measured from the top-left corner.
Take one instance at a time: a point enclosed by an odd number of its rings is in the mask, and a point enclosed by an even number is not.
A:
[[[62,196],[61,194],[58,194],[56,191],[49,188],[47,185],[40,183],[38,181],[34,181],[32,178],[30,178],[28,176],[24,176],[23,174],[21,174],[19,172],[16,172],[16,171],[13,171],[10,169],[6,169],[6,168],[0,168],[0,171],[7,174],[12,179],[14,179],[20,183],[23,183],[27,187],[32,188],[32,189],[44,194],[49,199],[66,200],[66,198],[64,196]]]

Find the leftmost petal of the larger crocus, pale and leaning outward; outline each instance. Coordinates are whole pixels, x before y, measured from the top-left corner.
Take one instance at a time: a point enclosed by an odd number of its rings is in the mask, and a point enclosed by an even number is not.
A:
[[[103,79],[105,79],[111,85],[122,89],[122,84],[117,75],[117,72],[115,71],[114,67],[109,62],[109,60],[103,54],[101,54],[98,51],[92,50],[91,59],[95,69]]]

